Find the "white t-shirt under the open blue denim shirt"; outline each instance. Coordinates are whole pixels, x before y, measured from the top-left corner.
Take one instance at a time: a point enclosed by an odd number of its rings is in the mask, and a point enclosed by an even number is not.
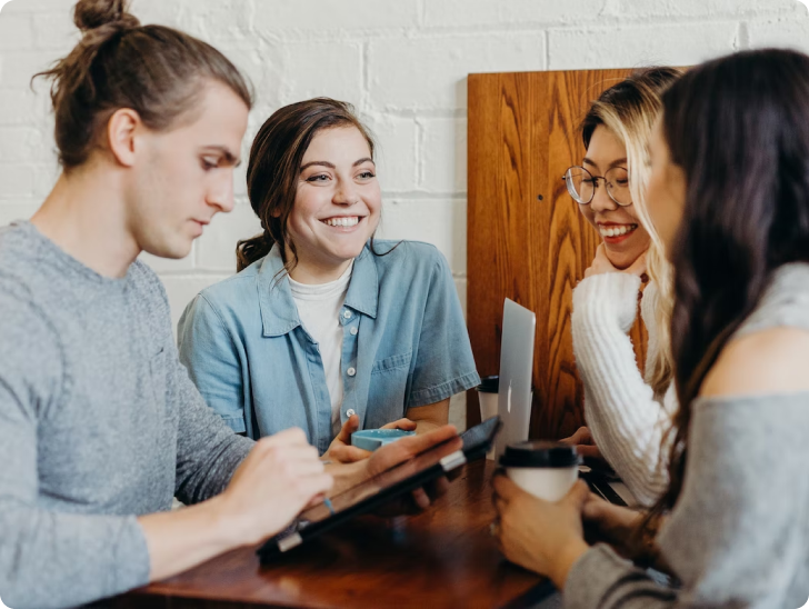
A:
[[[342,355],[342,326],[340,310],[346,302],[348,284],[351,281],[353,261],[340,279],[329,283],[311,286],[299,283],[289,277],[298,315],[307,332],[320,346],[320,358],[326,372],[326,387],[331,399],[331,436],[340,432],[340,406],[342,405],[342,375],[340,360]]]

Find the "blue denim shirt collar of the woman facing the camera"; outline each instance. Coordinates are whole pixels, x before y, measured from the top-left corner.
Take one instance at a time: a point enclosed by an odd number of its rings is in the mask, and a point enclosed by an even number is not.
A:
[[[354,259],[351,283],[346,294],[346,307],[376,319],[379,277],[372,256],[369,246],[366,244]],[[280,337],[301,325],[278,244],[272,246],[270,253],[261,261],[258,283],[263,336]]]

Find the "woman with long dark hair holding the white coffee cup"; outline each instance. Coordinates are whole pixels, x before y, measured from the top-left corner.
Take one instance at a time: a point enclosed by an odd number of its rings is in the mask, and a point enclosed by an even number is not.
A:
[[[809,57],[748,51],[691,70],[665,93],[650,152],[649,214],[676,269],[668,491],[645,517],[581,485],[548,503],[498,477],[502,549],[568,607],[802,607]],[[588,547],[582,516],[681,587]]]

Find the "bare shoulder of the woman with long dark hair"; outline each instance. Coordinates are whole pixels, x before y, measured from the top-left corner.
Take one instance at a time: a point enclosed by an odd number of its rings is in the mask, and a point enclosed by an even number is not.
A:
[[[809,330],[768,328],[729,342],[708,372],[701,397],[809,391]]]

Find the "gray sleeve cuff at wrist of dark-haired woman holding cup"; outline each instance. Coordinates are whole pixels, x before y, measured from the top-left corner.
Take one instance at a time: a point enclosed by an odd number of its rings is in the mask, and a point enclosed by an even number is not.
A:
[[[563,596],[566,609],[663,609],[677,602],[675,590],[658,586],[603,543],[573,563]]]

